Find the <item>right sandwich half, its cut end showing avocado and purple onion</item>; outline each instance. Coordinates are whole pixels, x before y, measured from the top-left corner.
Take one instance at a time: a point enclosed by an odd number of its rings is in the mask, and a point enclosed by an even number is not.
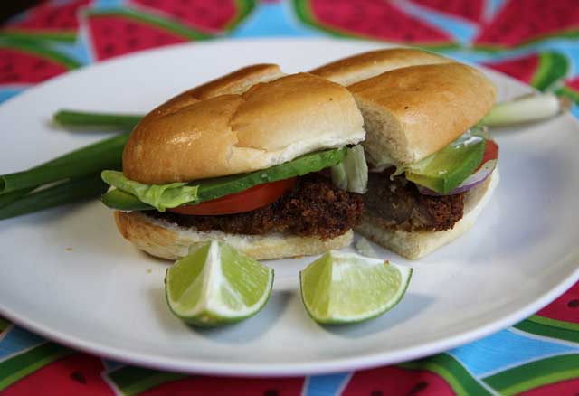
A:
[[[356,231],[419,259],[470,230],[498,184],[498,146],[477,127],[496,90],[476,69],[430,53],[370,54],[380,59],[374,77],[360,79],[365,54],[312,72],[357,81],[347,89],[364,117],[370,173]]]

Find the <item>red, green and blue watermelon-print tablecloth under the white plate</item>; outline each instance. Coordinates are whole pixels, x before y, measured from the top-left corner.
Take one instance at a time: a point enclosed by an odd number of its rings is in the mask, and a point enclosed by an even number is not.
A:
[[[52,0],[0,30],[0,101],[92,62],[215,37],[419,45],[574,100],[577,0]],[[299,378],[157,372],[82,354],[0,317],[0,394],[579,394],[579,284],[523,322],[419,361]]]

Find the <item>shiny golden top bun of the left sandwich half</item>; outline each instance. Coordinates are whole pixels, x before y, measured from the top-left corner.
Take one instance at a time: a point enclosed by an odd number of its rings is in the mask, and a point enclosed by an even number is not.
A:
[[[149,113],[128,139],[123,172],[146,184],[240,174],[364,139],[363,120],[344,87],[308,73],[243,94]]]

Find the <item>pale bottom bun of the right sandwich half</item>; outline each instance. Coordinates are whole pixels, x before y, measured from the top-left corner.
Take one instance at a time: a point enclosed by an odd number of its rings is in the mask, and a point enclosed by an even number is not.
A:
[[[479,184],[465,195],[464,215],[451,230],[392,231],[378,225],[372,216],[364,214],[362,224],[356,231],[406,259],[420,259],[470,230],[482,209],[489,203],[499,179],[498,169],[495,169],[483,184]]]

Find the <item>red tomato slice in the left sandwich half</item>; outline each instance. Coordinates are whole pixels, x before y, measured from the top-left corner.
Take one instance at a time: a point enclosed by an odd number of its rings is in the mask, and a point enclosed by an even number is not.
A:
[[[181,205],[167,209],[179,214],[217,215],[249,212],[273,203],[296,183],[296,177],[277,182],[258,184],[239,193],[231,193],[221,198],[196,205]]]

